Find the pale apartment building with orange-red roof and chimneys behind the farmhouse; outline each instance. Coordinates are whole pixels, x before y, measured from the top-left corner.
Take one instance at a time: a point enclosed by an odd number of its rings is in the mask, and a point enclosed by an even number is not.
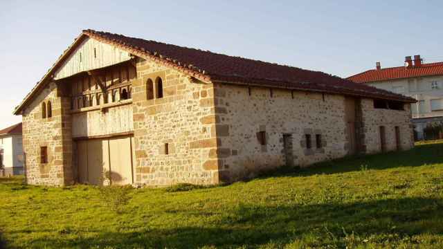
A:
[[[404,66],[381,68],[377,62],[375,69],[347,79],[415,98],[410,111],[419,140],[426,125],[443,122],[443,62],[424,64],[420,55],[406,56]]]

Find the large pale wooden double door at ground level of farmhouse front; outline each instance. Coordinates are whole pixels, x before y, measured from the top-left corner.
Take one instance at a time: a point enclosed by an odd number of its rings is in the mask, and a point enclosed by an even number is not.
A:
[[[134,138],[100,138],[77,142],[78,181],[102,185],[109,179],[113,185],[134,183]]]

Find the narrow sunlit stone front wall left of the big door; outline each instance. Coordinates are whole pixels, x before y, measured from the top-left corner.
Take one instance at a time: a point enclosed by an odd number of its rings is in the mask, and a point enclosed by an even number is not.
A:
[[[51,101],[52,118],[42,118],[42,102]],[[23,113],[23,147],[28,183],[65,185],[73,182],[72,139],[69,98],[59,97],[55,83],[48,86]],[[41,147],[48,149],[42,164]]]

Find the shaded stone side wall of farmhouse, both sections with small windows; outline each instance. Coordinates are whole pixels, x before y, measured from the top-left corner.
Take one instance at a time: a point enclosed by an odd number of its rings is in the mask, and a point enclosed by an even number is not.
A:
[[[221,180],[235,181],[282,165],[305,167],[346,156],[350,151],[345,117],[345,97],[302,91],[266,89],[229,84],[215,88],[217,149]],[[413,147],[409,110],[374,109],[373,100],[356,100],[356,152],[379,152],[379,125],[386,126],[387,149],[395,149],[395,126],[401,149]],[[266,131],[266,145],[258,133]],[[361,132],[361,133],[358,133]],[[306,134],[311,136],[307,149]],[[321,145],[317,148],[316,135]],[[292,155],[284,150],[284,135],[291,135]],[[359,151],[360,150],[360,151]],[[293,158],[293,162],[286,162]]]

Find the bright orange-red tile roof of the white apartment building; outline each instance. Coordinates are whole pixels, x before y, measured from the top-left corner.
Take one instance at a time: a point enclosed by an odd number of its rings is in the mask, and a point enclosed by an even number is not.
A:
[[[432,75],[443,75],[443,62],[427,63],[421,66],[413,66],[412,68],[397,66],[393,68],[381,68],[379,70],[372,69],[347,77],[347,80],[352,80],[356,83],[368,83]]]

